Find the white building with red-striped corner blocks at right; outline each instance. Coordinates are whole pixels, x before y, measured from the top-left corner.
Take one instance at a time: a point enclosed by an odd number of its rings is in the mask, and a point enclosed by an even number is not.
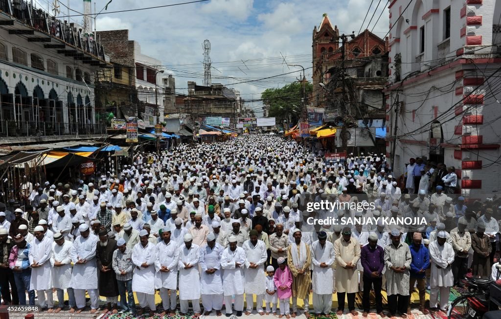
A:
[[[389,5],[386,155],[396,175],[409,158],[454,166],[458,193],[490,197],[501,190],[501,2],[408,4]]]

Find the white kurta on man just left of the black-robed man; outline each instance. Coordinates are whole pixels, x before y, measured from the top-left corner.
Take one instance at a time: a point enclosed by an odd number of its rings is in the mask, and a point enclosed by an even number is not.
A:
[[[71,260],[73,261],[73,273],[70,286],[74,289],[97,289],[97,265],[96,247],[99,241],[98,236],[90,233],[87,238],[78,236],[73,242],[71,249]],[[77,264],[78,260],[87,260],[82,264]]]

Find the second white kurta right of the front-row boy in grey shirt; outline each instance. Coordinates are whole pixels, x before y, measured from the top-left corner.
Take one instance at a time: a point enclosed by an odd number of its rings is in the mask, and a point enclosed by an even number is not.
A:
[[[177,288],[177,263],[179,261],[179,249],[175,241],[168,244],[162,240],[155,246],[155,288]],[[162,272],[160,268],[167,267],[170,271]]]

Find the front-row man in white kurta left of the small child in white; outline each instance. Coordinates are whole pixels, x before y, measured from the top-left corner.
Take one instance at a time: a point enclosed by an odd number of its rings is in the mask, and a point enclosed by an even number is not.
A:
[[[263,315],[263,299],[266,293],[266,273],[265,262],[268,258],[266,245],[263,240],[258,240],[258,231],[253,229],[249,232],[249,239],[243,242],[243,250],[245,250],[245,315],[252,312],[254,299],[256,295],[256,310]]]

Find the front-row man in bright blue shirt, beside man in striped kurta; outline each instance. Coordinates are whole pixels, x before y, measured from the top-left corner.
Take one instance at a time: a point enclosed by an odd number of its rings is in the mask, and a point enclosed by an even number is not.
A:
[[[412,245],[409,246],[410,254],[412,255],[409,287],[410,294],[412,294],[414,283],[417,282],[417,289],[419,290],[419,310],[423,312],[423,314],[428,314],[429,311],[424,307],[424,303],[426,301],[426,269],[430,266],[430,254],[428,248],[421,243],[422,239],[421,233],[415,232],[412,236]],[[411,314],[410,304],[407,309],[407,314]]]

